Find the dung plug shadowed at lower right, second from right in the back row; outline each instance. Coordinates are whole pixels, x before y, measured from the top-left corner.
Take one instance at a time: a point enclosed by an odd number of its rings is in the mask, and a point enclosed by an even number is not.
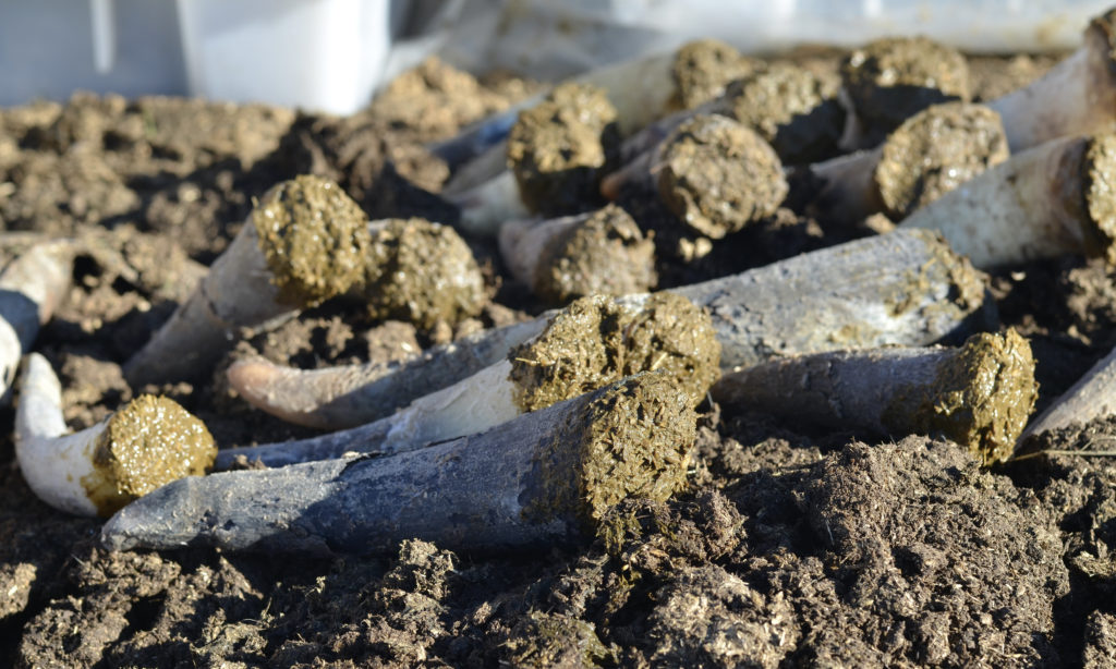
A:
[[[777,62],[728,85],[718,112],[752,128],[783,163],[815,163],[838,153],[845,108],[840,80]]]

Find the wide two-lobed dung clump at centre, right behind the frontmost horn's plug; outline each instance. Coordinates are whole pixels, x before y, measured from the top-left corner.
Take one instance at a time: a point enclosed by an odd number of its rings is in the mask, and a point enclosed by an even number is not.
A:
[[[721,345],[709,314],[674,293],[641,308],[605,295],[571,302],[533,341],[510,355],[516,404],[533,411],[642,371],[661,371],[691,406],[720,375]]]

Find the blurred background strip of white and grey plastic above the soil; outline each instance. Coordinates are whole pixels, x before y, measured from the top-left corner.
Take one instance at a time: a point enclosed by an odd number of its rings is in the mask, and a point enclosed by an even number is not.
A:
[[[1110,0],[0,0],[0,105],[75,90],[350,114],[436,54],[541,79],[699,37],[762,54],[925,35],[970,52],[1078,46]]]

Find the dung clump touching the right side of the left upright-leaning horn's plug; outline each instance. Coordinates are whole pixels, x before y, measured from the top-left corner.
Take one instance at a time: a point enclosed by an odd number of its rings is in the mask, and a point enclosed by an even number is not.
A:
[[[363,293],[373,318],[425,330],[477,316],[488,301],[469,245],[452,227],[424,219],[391,219],[375,226]]]

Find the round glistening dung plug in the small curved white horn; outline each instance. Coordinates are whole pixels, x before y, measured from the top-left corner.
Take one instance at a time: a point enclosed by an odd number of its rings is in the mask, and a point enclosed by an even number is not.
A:
[[[108,419],[81,484],[107,517],[164,484],[201,476],[215,457],[204,423],[174,400],[142,395]]]

